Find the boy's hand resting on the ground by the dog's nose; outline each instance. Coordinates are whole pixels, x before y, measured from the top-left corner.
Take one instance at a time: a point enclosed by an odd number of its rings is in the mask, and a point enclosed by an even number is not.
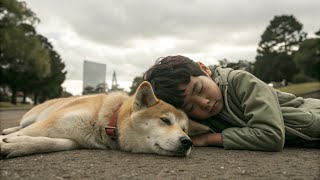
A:
[[[210,133],[192,136],[194,146],[222,146],[221,133]]]

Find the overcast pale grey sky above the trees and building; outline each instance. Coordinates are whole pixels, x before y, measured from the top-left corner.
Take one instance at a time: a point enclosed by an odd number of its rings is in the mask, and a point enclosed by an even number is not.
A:
[[[320,29],[319,0],[27,0],[68,71],[63,84],[82,92],[83,61],[107,64],[129,89],[155,60],[185,55],[207,65],[254,61],[260,35],[275,15],[292,14],[308,37]]]

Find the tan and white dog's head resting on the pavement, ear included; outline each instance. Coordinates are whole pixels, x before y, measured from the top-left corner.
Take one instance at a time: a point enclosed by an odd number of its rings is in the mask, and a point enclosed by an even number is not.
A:
[[[132,101],[132,113],[122,124],[120,147],[137,153],[187,156],[192,141],[188,137],[188,117],[172,105],[158,100],[145,81]],[[120,130],[120,129],[119,129]]]

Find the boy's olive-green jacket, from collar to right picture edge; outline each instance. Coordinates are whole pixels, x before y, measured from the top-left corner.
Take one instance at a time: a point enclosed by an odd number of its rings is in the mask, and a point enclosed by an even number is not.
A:
[[[224,108],[202,122],[221,132],[225,149],[280,151],[285,141],[320,140],[320,100],[275,90],[246,71],[218,67],[212,78]]]

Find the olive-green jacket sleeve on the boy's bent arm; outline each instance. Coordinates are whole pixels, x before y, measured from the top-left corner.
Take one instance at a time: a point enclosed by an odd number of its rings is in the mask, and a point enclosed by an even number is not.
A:
[[[222,131],[225,149],[281,151],[285,130],[283,116],[274,89],[245,71],[234,71],[230,79],[231,99],[241,104],[245,127]],[[232,101],[232,100],[231,100]]]

